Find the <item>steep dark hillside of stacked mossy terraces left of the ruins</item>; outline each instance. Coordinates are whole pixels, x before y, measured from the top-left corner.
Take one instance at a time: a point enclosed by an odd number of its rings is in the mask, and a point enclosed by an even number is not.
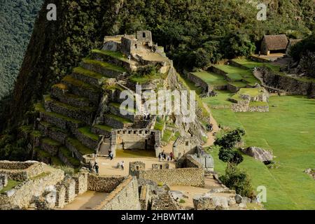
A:
[[[50,94],[34,105],[34,127],[20,127],[33,142],[34,159],[78,167],[85,162],[84,155],[97,151],[99,135],[108,139],[113,129],[144,127],[139,117],[123,116],[119,108],[120,92],[127,87],[117,81],[137,69],[136,64],[118,52],[92,50],[53,85]]]

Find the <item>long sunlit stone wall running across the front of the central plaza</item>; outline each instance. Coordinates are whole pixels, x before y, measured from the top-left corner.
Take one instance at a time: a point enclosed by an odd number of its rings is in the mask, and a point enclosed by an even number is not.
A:
[[[139,171],[139,179],[148,179],[168,186],[183,185],[204,187],[204,169],[153,169]]]

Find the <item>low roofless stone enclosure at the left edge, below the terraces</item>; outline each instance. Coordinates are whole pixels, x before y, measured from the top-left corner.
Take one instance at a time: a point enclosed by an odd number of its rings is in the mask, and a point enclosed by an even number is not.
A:
[[[40,162],[0,162],[0,173],[6,174],[8,179],[15,181],[27,181],[43,172],[43,165]]]

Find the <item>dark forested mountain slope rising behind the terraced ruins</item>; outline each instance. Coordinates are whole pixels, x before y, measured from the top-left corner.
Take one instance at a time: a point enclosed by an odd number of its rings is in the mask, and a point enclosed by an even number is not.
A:
[[[248,1],[249,2],[249,1]],[[0,120],[13,128],[32,103],[59,82],[104,35],[151,29],[179,68],[207,66],[249,55],[263,34],[303,38],[314,29],[314,0],[269,1],[258,21],[255,1],[243,0],[48,0],[36,20],[12,99]],[[48,3],[57,21],[46,20]],[[3,108],[3,106],[2,106]]]

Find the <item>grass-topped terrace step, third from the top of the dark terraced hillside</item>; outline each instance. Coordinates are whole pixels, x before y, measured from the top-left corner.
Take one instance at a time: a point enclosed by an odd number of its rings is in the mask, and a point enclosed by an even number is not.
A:
[[[76,67],[73,69],[71,76],[83,81],[84,83],[96,86],[102,85],[102,83],[104,83],[104,81],[109,78],[102,75],[101,73],[90,71],[89,69],[85,69],[83,67]]]

